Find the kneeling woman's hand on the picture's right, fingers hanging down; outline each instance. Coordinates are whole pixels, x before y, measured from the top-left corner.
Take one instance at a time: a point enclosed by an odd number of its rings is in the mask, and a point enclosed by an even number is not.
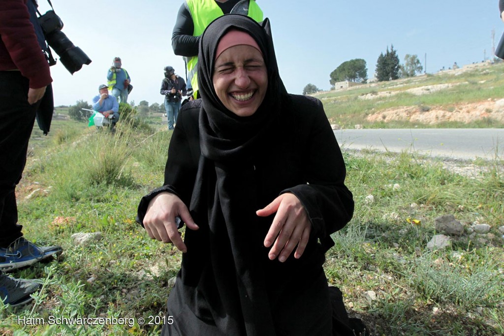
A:
[[[276,212],[270,230],[264,239],[264,246],[273,247],[268,254],[270,260],[278,256],[284,262],[296,248],[294,258],[299,259],[306,248],[311,231],[311,223],[299,198],[292,193],[285,193],[273,200],[265,208],[257,210],[261,217]]]

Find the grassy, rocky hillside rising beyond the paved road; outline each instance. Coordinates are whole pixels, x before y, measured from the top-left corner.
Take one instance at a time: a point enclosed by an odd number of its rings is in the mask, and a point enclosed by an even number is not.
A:
[[[504,127],[504,64],[318,92],[341,128]]]

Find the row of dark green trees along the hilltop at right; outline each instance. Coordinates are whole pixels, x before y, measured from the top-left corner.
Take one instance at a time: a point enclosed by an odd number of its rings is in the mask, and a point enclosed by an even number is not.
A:
[[[397,50],[391,45],[387,46],[385,53],[380,53],[376,61],[375,77],[379,82],[390,81],[398,78],[413,77],[422,73],[423,67],[417,55],[406,54],[404,63],[400,64]],[[337,82],[367,82],[366,61],[363,59],[353,59],[345,61],[329,75],[329,83],[334,86]],[[303,94],[312,94],[321,91],[317,86],[309,83],[303,89]]]

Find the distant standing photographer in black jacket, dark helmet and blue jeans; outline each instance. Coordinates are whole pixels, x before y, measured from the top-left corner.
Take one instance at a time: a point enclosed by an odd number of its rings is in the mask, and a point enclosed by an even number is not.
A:
[[[161,94],[164,95],[164,108],[168,117],[168,130],[173,130],[173,124],[177,121],[178,110],[180,109],[182,96],[187,94],[185,81],[175,75],[175,70],[164,67],[164,79],[161,83]]]

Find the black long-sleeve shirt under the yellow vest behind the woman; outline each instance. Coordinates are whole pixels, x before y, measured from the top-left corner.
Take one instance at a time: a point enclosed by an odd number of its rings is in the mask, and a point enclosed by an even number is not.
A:
[[[229,14],[233,7],[240,0],[228,0],[225,3],[216,1],[222,13]],[[194,22],[191,17],[191,12],[187,8],[187,3],[184,1],[177,14],[177,21],[173,27],[171,35],[171,46],[175,55],[193,57],[198,55],[198,44],[200,36],[193,36]]]

